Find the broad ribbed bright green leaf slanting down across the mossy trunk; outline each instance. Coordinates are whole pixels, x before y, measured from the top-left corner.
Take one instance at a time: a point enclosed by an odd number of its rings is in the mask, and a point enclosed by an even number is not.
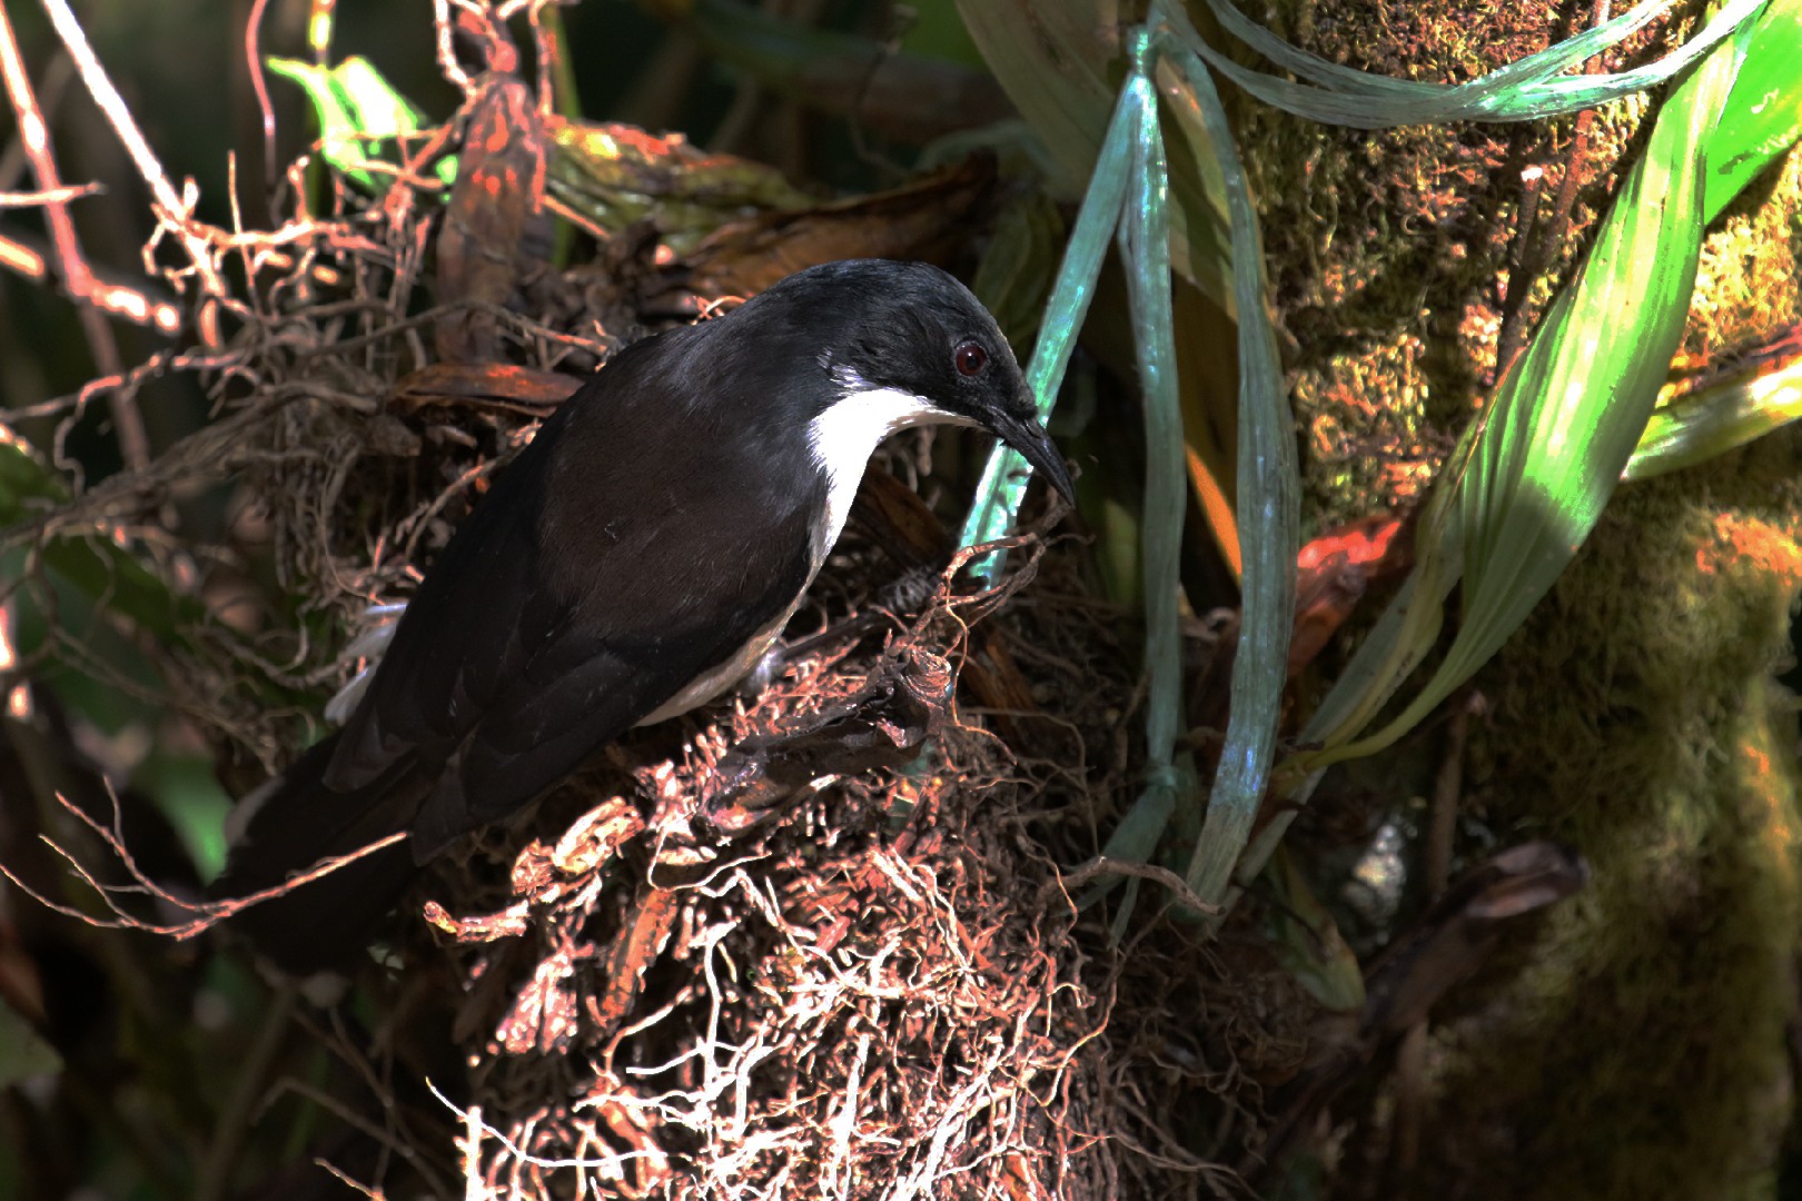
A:
[[[1717,47],[1660,110],[1575,286],[1553,303],[1470,439],[1452,499],[1434,513],[1445,537],[1420,542],[1411,585],[1384,616],[1382,637],[1359,650],[1303,731],[1303,742],[1323,749],[1297,756],[1299,763],[1321,767],[1400,738],[1496,654],[1589,535],[1683,335],[1701,250],[1706,146],[1743,41]],[[1397,668],[1431,645],[1434,610],[1460,565],[1463,625],[1445,661],[1393,722],[1350,742],[1400,682]],[[1377,691],[1355,695],[1368,688]]]

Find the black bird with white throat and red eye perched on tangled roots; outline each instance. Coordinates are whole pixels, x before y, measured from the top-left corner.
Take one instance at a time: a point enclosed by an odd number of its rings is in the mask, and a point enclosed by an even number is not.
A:
[[[771,650],[876,447],[995,434],[1072,499],[995,317],[924,263],[809,266],[616,351],[470,510],[341,729],[240,801],[214,898],[290,974],[342,965],[414,873]]]

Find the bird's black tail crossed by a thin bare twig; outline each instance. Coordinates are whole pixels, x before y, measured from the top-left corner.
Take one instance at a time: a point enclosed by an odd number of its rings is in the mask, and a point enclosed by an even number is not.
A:
[[[276,888],[323,859],[350,855],[413,823],[423,789],[407,787],[407,780],[382,778],[350,792],[328,789],[323,776],[333,747],[337,735],[241,801],[256,810],[209,889],[214,898]],[[414,871],[413,850],[400,839],[245,908],[227,918],[227,927],[288,972],[346,967],[400,900]]]

